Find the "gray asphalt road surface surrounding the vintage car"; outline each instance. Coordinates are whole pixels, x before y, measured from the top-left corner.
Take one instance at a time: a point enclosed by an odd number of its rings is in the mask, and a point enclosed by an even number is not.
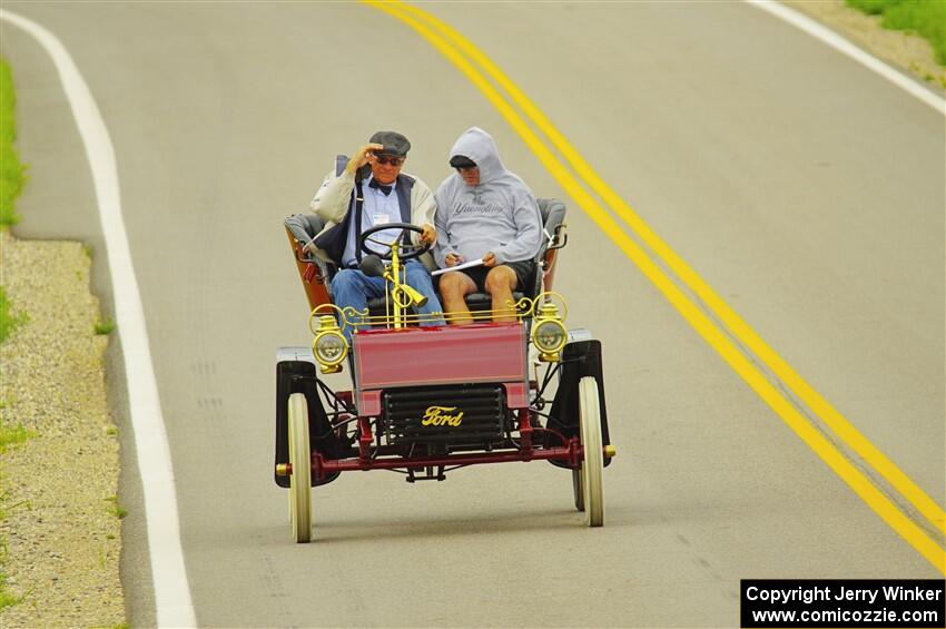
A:
[[[742,578],[942,577],[403,23],[335,3],[3,6],[63,41],[115,144],[201,626],[735,626]],[[942,115],[741,3],[425,8],[943,507]],[[52,66],[2,35],[31,165],[16,233],[100,243]],[[545,464],[418,485],[351,474],[315,491],[317,541],[295,546],[270,478],[273,367],[309,335],[282,218],[382,128],[411,138],[405,170],[435,186],[471,125],[570,205],[556,288],[604,344],[607,525],[585,529],[569,474]],[[126,445],[122,569],[147,626]]]

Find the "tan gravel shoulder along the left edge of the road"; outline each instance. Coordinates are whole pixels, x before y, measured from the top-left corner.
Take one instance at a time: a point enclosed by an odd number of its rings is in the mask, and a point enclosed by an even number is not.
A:
[[[0,249],[7,293],[29,314],[0,346],[2,419],[33,433],[2,455],[3,570],[22,600],[0,611],[0,626],[121,626],[118,438],[91,261],[80,243],[18,240],[9,230]]]

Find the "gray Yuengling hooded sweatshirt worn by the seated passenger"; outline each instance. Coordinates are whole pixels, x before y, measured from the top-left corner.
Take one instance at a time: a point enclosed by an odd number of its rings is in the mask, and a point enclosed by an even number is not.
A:
[[[542,242],[542,218],[532,190],[506,170],[493,138],[471,127],[450,149],[450,158],[469,157],[480,167],[480,184],[467,186],[453,173],[437,188],[437,244],[434,257],[446,266],[447,254],[463,262],[496,255],[496,264],[532,259]]]

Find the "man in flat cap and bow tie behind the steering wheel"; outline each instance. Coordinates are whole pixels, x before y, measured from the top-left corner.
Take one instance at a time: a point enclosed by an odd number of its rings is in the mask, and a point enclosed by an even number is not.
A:
[[[401,173],[411,142],[396,131],[378,131],[368,144],[361,147],[344,169],[336,175],[329,173],[322,187],[315,193],[309,207],[323,220],[325,228],[313,240],[316,254],[334,262],[341,271],[332,279],[332,295],[338,307],[354,307],[362,312],[367,301],[383,297],[384,279],[371,277],[358,267],[362,250],[357,248],[362,232],[375,225],[387,223],[412,223],[423,228],[423,234],[412,234],[412,244],[433,244],[436,240],[434,213],[436,204],[431,189],[421,179]],[[361,216],[361,220],[357,217]],[[391,239],[397,236],[392,230]],[[381,239],[386,232],[381,232]],[[384,247],[367,244],[378,254]],[[424,263],[432,265],[430,256],[407,261],[404,264],[405,282],[427,298],[426,304],[417,306],[418,314],[441,313],[443,307],[434,292],[431,274]],[[442,325],[443,320],[430,317],[422,325]],[[345,328],[348,343],[352,342],[349,328]]]

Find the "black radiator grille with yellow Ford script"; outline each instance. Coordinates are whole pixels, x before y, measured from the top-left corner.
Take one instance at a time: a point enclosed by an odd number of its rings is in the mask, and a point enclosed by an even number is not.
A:
[[[504,432],[505,390],[497,385],[398,389],[382,404],[388,443],[489,443]]]

